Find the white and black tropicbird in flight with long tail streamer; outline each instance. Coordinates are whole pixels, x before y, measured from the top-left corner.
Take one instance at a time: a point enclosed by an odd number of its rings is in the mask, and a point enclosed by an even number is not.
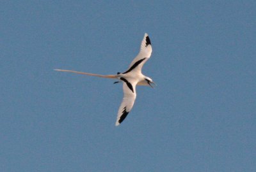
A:
[[[118,81],[114,83],[122,82],[124,97],[122,99],[122,103],[120,104],[117,117],[116,117],[115,125],[118,126],[124,121],[128,113],[132,110],[132,106],[134,105],[134,101],[136,99],[136,85],[150,86],[152,88],[156,86],[156,83],[154,83],[151,78],[141,73],[141,69],[143,65],[150,58],[151,54],[152,54],[151,41],[150,41],[150,38],[148,37],[148,34],[145,33],[141,41],[140,52],[133,59],[129,68],[124,73],[118,72],[116,75],[99,75],[95,73],[85,73],[81,71],[72,71],[67,69],[54,69],[54,70],[77,73],[81,75],[97,76],[100,78],[117,79]]]

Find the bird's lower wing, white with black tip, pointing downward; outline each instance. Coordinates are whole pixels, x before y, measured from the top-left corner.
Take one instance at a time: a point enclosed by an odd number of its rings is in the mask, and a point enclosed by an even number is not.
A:
[[[123,80],[124,78],[120,79]],[[124,98],[117,113],[116,126],[127,117],[136,99],[136,84],[132,84],[125,79],[123,81]]]

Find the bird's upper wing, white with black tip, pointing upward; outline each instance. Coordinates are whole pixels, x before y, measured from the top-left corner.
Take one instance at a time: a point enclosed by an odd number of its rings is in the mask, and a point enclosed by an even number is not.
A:
[[[152,53],[152,46],[148,34],[145,33],[143,40],[140,45],[139,54],[131,62],[129,69],[124,73],[129,73],[130,71],[141,71],[143,64],[150,58]]]

